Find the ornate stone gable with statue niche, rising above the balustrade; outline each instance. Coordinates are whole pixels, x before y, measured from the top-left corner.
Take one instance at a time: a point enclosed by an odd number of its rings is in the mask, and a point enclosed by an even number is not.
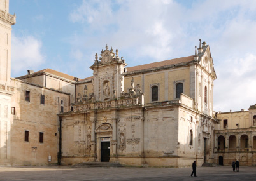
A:
[[[99,61],[100,60],[100,61]],[[90,69],[94,70],[94,96],[96,101],[108,101],[118,99],[124,91],[124,67],[127,65],[124,59],[118,56],[118,50],[113,48],[101,51],[101,57],[96,53],[94,64]]]

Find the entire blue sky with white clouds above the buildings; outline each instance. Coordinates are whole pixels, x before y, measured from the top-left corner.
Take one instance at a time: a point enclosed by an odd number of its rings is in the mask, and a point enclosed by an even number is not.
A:
[[[194,55],[210,46],[217,79],[214,110],[256,104],[256,1],[10,0],[11,77],[50,68],[92,76],[106,44],[127,67]]]

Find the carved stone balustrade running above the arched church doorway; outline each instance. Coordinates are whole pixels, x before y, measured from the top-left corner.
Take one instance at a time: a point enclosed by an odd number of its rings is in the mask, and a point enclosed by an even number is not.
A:
[[[73,105],[74,112],[88,111],[93,109],[110,109],[114,107],[129,107],[139,105],[138,98],[128,98],[121,100],[111,100],[108,102],[96,102],[82,105]]]

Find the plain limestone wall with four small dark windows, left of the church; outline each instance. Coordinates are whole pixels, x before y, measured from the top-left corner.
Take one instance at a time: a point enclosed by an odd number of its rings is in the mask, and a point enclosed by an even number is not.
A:
[[[69,111],[69,95],[47,88],[33,86],[17,79],[11,80],[15,86],[15,95],[11,97],[11,107],[15,115],[11,116],[11,164],[34,165],[57,163],[59,151],[59,109],[61,100],[64,111]],[[30,101],[25,101],[25,91],[30,91]],[[40,104],[41,94],[45,95],[45,104]],[[25,131],[29,131],[29,141],[25,141]],[[43,133],[43,143],[39,143],[39,133]]]

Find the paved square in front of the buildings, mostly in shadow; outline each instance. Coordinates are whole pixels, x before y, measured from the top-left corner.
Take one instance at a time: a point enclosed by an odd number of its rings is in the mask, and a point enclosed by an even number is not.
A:
[[[256,180],[256,167],[72,168],[70,166],[0,167],[0,180]]]

